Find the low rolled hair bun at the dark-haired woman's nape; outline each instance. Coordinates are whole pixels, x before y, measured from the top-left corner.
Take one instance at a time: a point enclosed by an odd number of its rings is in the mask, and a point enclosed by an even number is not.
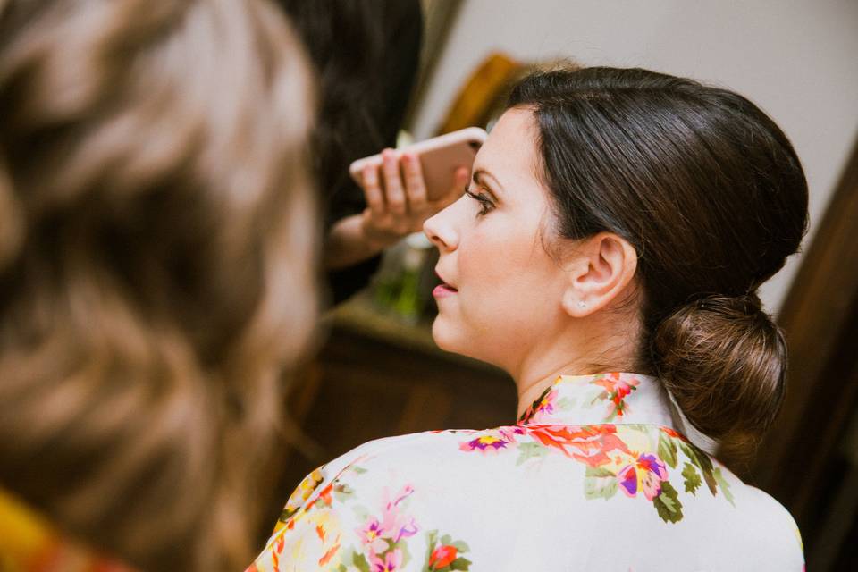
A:
[[[680,307],[658,325],[652,353],[688,420],[723,445],[749,450],[778,415],[787,344],[754,293]]]

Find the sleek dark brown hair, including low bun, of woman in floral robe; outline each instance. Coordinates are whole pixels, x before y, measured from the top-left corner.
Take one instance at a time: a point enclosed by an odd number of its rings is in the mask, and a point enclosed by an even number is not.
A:
[[[561,237],[610,231],[638,255],[635,368],[733,447],[784,398],[787,348],[756,290],[807,226],[807,183],[784,133],[727,89],[641,69],[534,73],[533,110]]]

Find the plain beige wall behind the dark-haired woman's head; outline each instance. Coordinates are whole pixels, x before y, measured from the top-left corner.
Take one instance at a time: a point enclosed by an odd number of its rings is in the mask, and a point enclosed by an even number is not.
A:
[[[858,0],[466,0],[417,110],[418,139],[433,133],[450,97],[494,50],[641,66],[751,98],[802,157],[809,238],[858,135]],[[799,261],[763,286],[772,311]]]

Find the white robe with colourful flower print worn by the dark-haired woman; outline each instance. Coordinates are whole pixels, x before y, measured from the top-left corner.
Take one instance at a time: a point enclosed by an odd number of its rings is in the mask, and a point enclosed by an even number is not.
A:
[[[802,570],[787,510],[682,426],[652,377],[560,376],[517,425],[316,469],[248,572]]]

